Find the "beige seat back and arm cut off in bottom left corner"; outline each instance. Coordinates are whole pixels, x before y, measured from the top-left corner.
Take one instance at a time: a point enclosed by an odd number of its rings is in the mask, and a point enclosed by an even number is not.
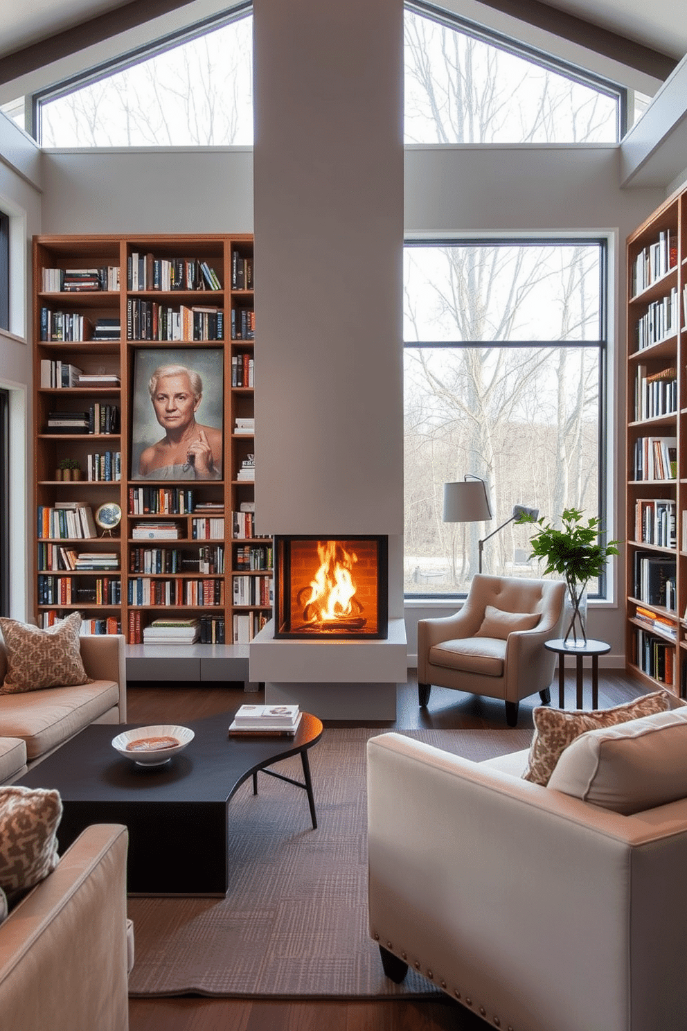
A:
[[[0,1023],[127,1031],[132,963],[127,828],[94,825],[0,924]]]

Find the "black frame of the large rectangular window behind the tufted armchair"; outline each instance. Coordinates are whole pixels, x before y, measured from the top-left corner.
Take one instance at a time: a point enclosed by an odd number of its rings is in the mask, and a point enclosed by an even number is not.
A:
[[[489,340],[406,340],[403,346],[406,347],[450,347],[450,348],[472,348],[472,347],[596,347],[598,350],[598,427],[597,427],[597,447],[598,447],[598,469],[597,469],[597,498],[602,532],[599,539],[605,544],[609,539],[608,512],[609,512],[609,408],[608,408],[608,372],[609,372],[609,325],[608,325],[608,301],[609,301],[609,240],[604,235],[589,236],[455,236],[455,237],[421,237],[408,238],[404,241],[404,251],[409,247],[450,247],[450,246],[575,246],[587,244],[598,246],[599,248],[599,310],[598,328],[600,336],[598,340],[513,340],[513,341],[489,341]],[[405,417],[405,402],[404,402]],[[404,471],[405,479],[405,471]],[[467,593],[420,593],[408,591],[404,592],[405,601],[455,601],[467,598]],[[608,573],[607,568],[598,577],[598,590],[589,593],[588,597],[593,601],[608,600]]]

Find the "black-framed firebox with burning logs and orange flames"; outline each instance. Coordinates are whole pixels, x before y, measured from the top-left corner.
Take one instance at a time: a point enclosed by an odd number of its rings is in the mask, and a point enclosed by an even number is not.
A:
[[[275,638],[385,640],[385,536],[274,538]]]

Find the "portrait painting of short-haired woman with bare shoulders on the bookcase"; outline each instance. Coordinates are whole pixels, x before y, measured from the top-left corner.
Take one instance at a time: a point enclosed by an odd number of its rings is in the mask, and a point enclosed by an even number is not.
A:
[[[136,350],[132,479],[221,479],[222,363],[221,347]]]

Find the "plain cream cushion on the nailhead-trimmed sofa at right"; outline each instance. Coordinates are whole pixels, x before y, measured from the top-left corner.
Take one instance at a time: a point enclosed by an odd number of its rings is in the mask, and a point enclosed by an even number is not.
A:
[[[625,816],[687,798],[687,707],[580,734],[548,787]]]

